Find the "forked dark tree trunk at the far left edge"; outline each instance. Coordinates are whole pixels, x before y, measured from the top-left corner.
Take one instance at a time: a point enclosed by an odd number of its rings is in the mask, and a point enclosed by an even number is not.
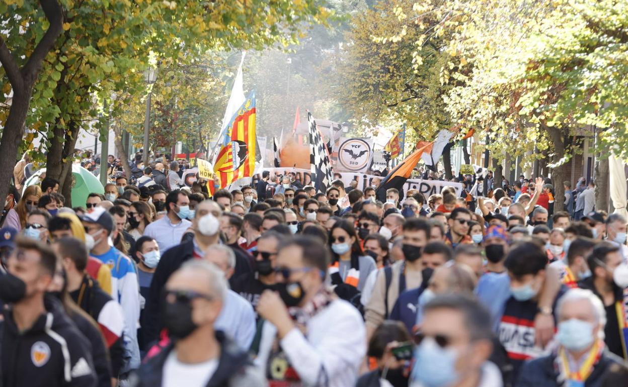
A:
[[[50,23],[41,40],[19,68],[16,58],[0,37],[0,64],[13,89],[11,109],[0,139],[0,198],[6,197],[18,159],[18,147],[24,137],[24,121],[28,113],[33,86],[41,71],[41,63],[63,31],[63,9],[57,0],[40,0],[41,9]],[[35,43],[35,42],[33,42]]]

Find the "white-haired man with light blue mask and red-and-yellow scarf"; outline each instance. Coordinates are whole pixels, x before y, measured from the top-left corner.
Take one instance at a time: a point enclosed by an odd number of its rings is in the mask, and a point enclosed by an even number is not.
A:
[[[516,386],[599,386],[612,364],[622,364],[604,344],[602,301],[591,290],[571,289],[558,301],[556,314],[560,346],[524,364]]]

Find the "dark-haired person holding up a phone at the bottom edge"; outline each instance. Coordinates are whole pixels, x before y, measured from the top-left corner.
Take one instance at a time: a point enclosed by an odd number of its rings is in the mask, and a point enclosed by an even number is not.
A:
[[[412,357],[411,337],[408,330],[399,322],[384,321],[377,327],[366,355],[375,358],[377,369],[360,376],[356,387],[397,387],[408,385],[408,364]],[[408,351],[399,353],[401,348],[408,347]],[[393,349],[397,349],[393,353]]]

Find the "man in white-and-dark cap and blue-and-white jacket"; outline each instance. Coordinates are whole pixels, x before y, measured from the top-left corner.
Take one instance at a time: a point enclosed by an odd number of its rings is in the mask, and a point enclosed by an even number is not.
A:
[[[122,371],[138,368],[139,285],[133,261],[109,245],[114,221],[104,208],[94,208],[92,212],[81,216],[81,220],[85,227],[85,245],[94,258],[111,268],[113,294],[117,295],[124,311],[124,348],[131,359]]]

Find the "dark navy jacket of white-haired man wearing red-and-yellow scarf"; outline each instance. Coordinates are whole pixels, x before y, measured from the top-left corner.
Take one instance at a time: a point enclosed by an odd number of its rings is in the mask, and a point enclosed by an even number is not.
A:
[[[558,374],[554,367],[555,359],[555,354],[551,354],[526,362],[521,368],[516,387],[562,386],[556,382]],[[601,386],[607,369],[614,363],[622,364],[622,359],[605,350],[598,363],[593,367],[593,372],[585,381],[585,387]]]

